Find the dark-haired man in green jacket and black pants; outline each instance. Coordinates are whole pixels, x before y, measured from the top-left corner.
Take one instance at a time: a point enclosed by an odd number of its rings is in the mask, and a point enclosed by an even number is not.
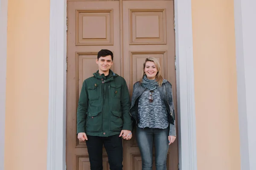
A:
[[[99,70],[85,79],[77,108],[77,136],[86,140],[90,169],[102,170],[102,146],[111,170],[122,170],[122,138],[132,137],[131,106],[125,79],[110,70],[113,53],[101,50]]]

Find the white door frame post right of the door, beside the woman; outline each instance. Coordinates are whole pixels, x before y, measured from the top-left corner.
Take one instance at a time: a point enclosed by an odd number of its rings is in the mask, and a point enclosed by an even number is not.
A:
[[[180,170],[197,170],[191,0],[174,0]]]

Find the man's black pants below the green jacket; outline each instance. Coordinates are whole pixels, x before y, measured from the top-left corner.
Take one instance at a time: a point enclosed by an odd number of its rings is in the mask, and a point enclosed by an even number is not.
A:
[[[123,148],[122,138],[119,135],[109,137],[87,136],[86,141],[91,170],[102,170],[102,147],[108,154],[108,163],[111,170],[122,170]]]

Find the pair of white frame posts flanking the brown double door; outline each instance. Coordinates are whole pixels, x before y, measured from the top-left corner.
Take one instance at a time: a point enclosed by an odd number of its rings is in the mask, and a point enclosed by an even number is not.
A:
[[[180,170],[197,170],[191,0],[175,2]],[[66,154],[66,0],[50,0],[47,170],[64,170]]]

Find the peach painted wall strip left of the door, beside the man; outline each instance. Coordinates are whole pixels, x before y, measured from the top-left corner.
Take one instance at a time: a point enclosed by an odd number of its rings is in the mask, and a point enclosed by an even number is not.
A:
[[[49,0],[9,0],[5,170],[46,170]]]

